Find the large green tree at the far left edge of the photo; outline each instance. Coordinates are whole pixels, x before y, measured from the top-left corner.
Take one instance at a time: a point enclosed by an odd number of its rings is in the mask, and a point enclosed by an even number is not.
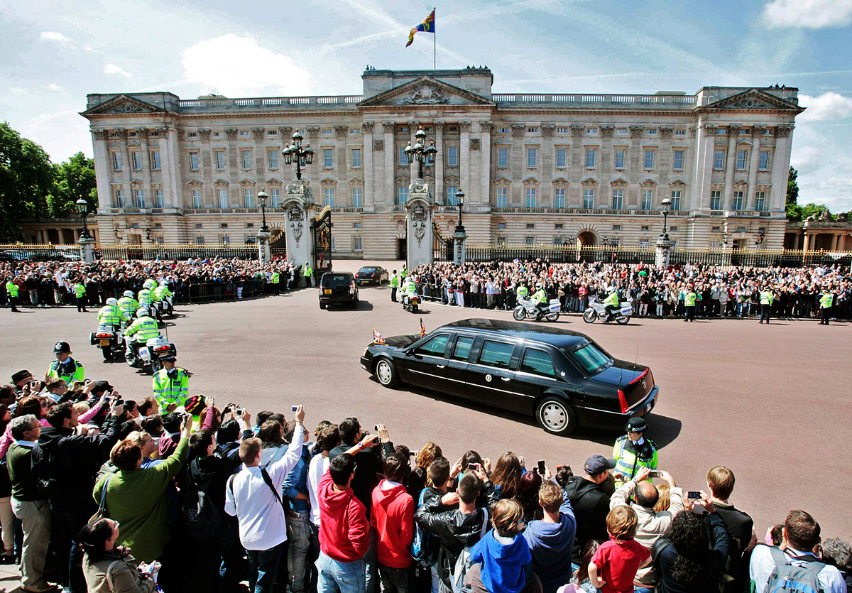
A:
[[[0,124],[0,241],[20,239],[20,219],[47,214],[50,158],[35,142]]]

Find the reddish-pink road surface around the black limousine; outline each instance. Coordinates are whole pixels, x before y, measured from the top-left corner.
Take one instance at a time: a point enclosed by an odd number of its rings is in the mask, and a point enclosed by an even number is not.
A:
[[[336,262],[356,270],[364,262]],[[389,269],[396,264],[386,263]],[[193,371],[190,393],[209,394],[250,411],[291,416],[303,404],[307,423],[355,416],[372,429],[383,422],[394,442],[417,449],[434,440],[451,463],[475,449],[495,460],[507,450],[532,467],[569,464],[581,471],[586,457],[607,455],[618,432],[580,430],[569,438],[544,433],[532,418],[469,407],[435,393],[384,389],[360,368],[372,328],[385,337],[427,331],[466,317],[509,319],[503,311],[459,310],[424,303],[410,314],[390,302],[387,285],[362,288],[357,310],[322,311],[316,290],[245,302],[177,308],[168,334],[178,364]],[[151,378],[124,362],[104,363],[89,345],[95,313],[74,308],[0,310],[0,377],[28,368],[42,373],[58,340],[71,343],[87,377],[105,378],[127,397],[151,393]],[[684,490],[705,488],[711,465],[737,476],[731,498],[756,520],[758,537],[790,509],[808,510],[824,538],[852,535],[848,491],[852,461],[842,445],[848,435],[849,325],[816,321],[635,320],[630,325],[586,325],[563,316],[557,325],[582,331],[618,358],[653,370],[659,403],[648,417],[649,436],[661,447],[659,467]]]

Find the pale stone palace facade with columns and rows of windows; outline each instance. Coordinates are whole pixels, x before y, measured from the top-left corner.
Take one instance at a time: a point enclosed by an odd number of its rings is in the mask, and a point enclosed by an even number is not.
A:
[[[274,238],[298,130],[337,256],[399,257],[417,176],[405,148],[422,127],[438,150],[424,170],[438,230],[452,234],[461,187],[470,243],[653,245],[668,196],[678,247],[783,244],[797,89],[496,94],[481,67],[362,79],[363,95],[88,95],[101,243],[251,242],[261,188]]]

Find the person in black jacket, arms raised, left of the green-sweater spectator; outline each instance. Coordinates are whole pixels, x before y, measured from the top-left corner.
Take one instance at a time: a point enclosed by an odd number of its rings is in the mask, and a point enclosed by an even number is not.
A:
[[[101,434],[77,435],[78,412],[72,402],[53,406],[47,417],[50,426],[42,429],[32,452],[33,477],[53,511],[51,538],[66,565],[62,584],[73,593],[86,591],[77,535],[97,510],[92,498],[95,478],[116,442],[116,424],[124,406],[115,404],[111,412]]]

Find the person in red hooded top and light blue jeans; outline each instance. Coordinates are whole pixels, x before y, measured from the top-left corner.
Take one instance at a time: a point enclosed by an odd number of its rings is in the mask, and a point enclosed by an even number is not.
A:
[[[316,561],[317,590],[363,593],[364,555],[370,526],[366,510],[352,491],[355,459],[343,453],[331,460],[320,480],[320,557]]]

